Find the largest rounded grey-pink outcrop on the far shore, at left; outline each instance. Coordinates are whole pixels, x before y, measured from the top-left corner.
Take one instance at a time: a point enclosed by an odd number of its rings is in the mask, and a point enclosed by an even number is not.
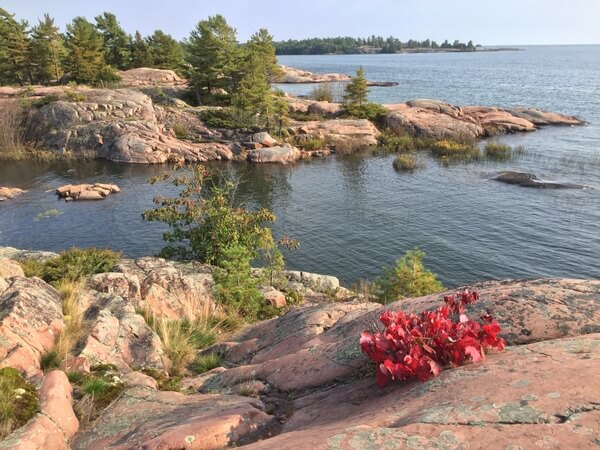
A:
[[[117,162],[232,159],[228,144],[192,143],[173,136],[150,97],[132,89],[87,89],[81,102],[56,101],[32,112],[32,138],[55,151]]]

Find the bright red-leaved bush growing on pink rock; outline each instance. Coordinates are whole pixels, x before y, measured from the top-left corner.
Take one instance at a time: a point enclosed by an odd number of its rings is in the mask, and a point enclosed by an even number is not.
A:
[[[362,351],[377,364],[377,383],[383,387],[413,377],[426,381],[450,364],[482,361],[490,347],[504,349],[498,322],[489,314],[481,316],[481,323],[465,314],[465,305],[478,299],[477,292],[465,290],[445,296],[445,305],[420,315],[385,311],[380,317],[385,330],[364,331],[360,337]]]

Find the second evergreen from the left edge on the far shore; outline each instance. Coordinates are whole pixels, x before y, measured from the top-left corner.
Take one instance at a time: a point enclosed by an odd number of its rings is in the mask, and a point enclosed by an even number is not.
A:
[[[44,19],[31,29],[30,60],[36,83],[58,81],[62,76],[61,60],[65,47],[60,29],[54,25],[54,19],[44,14]]]

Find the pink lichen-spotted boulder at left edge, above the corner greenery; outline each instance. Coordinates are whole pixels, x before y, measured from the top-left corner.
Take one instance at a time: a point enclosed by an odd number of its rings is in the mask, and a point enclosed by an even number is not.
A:
[[[63,327],[58,293],[44,281],[14,277],[0,283],[0,367],[40,376],[40,357]]]

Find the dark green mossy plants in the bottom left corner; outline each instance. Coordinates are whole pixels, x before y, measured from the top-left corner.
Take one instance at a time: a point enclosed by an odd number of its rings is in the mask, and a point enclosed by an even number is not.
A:
[[[0,439],[25,425],[37,412],[35,386],[12,367],[0,369]]]

